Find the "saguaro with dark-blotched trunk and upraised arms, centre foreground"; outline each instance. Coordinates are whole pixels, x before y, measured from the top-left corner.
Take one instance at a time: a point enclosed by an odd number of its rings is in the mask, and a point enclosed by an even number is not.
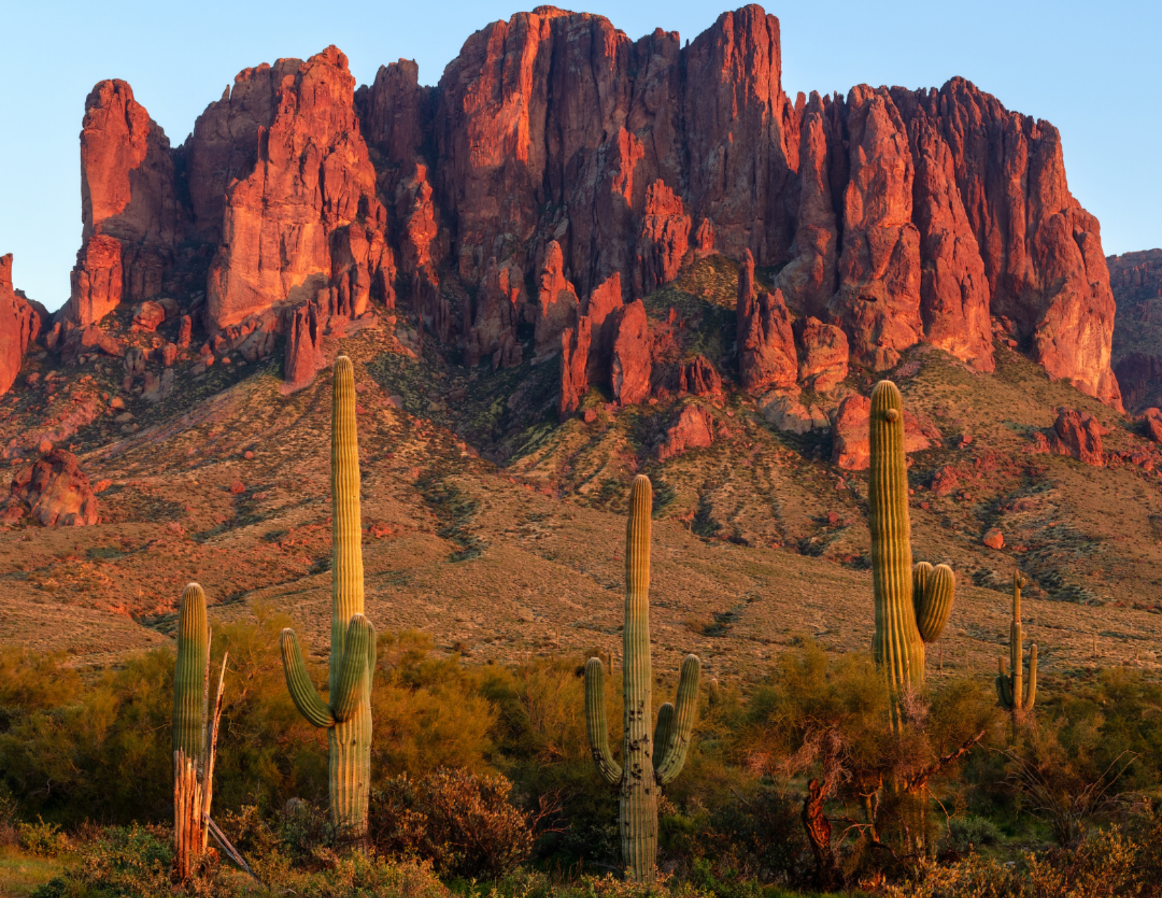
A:
[[[622,860],[638,882],[653,877],[658,857],[658,786],[682,771],[698,710],[697,655],[687,655],[677,683],[676,706],[658,711],[653,739],[653,673],[650,660],[650,479],[638,475],[630,490],[630,519],[625,530],[625,627],[623,637],[624,741],[621,766],[609,750],[605,717],[605,671],[590,658],[584,669],[584,710],[589,746],[597,769],[610,785],[621,788],[618,828]]]

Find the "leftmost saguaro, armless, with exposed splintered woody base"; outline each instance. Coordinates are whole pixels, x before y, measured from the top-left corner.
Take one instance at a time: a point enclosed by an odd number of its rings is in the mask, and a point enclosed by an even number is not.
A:
[[[173,671],[173,877],[179,882],[189,877],[206,849],[225,662],[223,655],[210,713],[206,594],[198,583],[191,583],[181,594],[178,611],[178,661]]]

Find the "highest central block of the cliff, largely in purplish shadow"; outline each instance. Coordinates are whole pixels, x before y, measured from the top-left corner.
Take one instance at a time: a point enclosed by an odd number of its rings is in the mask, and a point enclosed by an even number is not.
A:
[[[673,192],[651,213],[668,220],[665,258],[689,216],[712,222],[703,237],[719,251],[779,260],[792,229],[784,131],[791,156],[798,144],[779,41],[758,6],[724,13],[686,48],[676,33],[631,41],[601,16],[553,7],[474,34],[440,79],[432,122],[459,275],[476,283],[505,247],[536,268],[543,230],[581,295],[615,271],[633,285],[639,240],[658,235],[644,218],[659,179]]]

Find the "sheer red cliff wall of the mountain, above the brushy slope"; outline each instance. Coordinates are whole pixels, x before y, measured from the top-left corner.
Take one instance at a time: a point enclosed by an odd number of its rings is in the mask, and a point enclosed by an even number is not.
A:
[[[686,46],[538,7],[472,35],[435,88],[400,60],[357,93],[335,48],[248,69],[177,151],[105,81],[86,105],[70,318],[173,289],[182,266],[201,272],[205,306],[193,287],[186,304],[210,336],[304,303],[350,319],[399,289],[469,364],[568,346],[564,409],[582,380],[625,382],[623,304],[693,258],[748,254],[777,268],[739,312],[752,390],[794,387],[810,347],[792,325],[841,330],[835,371],[890,368],[919,342],[990,371],[998,319],[1054,378],[1120,407],[1098,223],[1056,130],[962,79],[791,103],[780,53],[753,5]]]

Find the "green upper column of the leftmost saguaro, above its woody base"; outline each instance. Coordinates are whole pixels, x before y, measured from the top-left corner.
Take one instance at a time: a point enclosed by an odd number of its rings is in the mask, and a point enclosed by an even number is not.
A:
[[[206,594],[189,583],[178,611],[178,660],[173,670],[173,750],[185,750],[194,768],[206,757],[206,677],[209,670],[210,631]]]

